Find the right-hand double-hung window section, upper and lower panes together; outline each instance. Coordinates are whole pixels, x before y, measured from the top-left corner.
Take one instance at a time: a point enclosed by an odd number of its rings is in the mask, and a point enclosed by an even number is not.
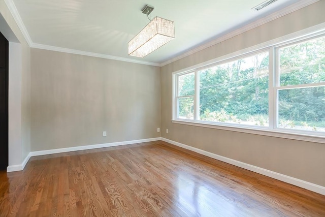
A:
[[[325,132],[325,37],[277,53],[278,128]]]

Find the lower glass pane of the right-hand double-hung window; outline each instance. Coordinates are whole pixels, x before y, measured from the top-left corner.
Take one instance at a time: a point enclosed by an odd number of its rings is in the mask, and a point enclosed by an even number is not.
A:
[[[278,93],[278,127],[325,131],[325,87],[282,89]]]

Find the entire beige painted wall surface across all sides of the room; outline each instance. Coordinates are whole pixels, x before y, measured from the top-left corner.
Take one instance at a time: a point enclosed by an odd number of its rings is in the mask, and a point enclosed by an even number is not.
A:
[[[162,136],[325,186],[324,144],[170,121],[172,72],[325,22],[324,8],[325,1],[321,0],[164,66],[160,74],[158,67],[40,49],[30,51],[5,2],[0,0],[0,13],[18,39],[21,54],[21,71],[13,80],[21,91],[17,94],[21,99],[14,105],[19,107],[15,111],[20,114],[20,122],[17,120],[15,128],[18,126],[20,131],[13,132],[21,133],[13,134],[17,144],[9,147],[10,165],[21,164],[30,150]],[[161,135],[156,132],[160,124]],[[103,131],[107,131],[107,137],[102,137]]]

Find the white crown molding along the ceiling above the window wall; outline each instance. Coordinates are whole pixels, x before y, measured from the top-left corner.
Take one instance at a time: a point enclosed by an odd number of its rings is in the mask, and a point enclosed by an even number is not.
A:
[[[252,23],[249,23],[249,24],[247,24],[247,25],[245,25],[245,26],[243,26],[241,28],[238,28],[238,29],[234,30],[231,33],[228,33],[228,34],[225,34],[225,35],[223,35],[221,37],[218,37],[217,39],[215,39],[215,40],[213,40],[211,42],[205,43],[205,44],[203,44],[203,45],[201,45],[199,47],[193,48],[193,49],[191,49],[189,51],[186,51],[186,52],[184,52],[184,53],[182,53],[182,54],[180,54],[180,55],[178,55],[176,57],[173,57],[173,58],[165,61],[164,63],[161,63],[160,64],[160,67],[163,67],[163,66],[166,66],[168,64],[171,64],[171,63],[173,63],[176,60],[179,60],[179,59],[184,58],[186,56],[189,56],[189,55],[191,55],[193,53],[199,52],[199,51],[204,50],[204,49],[206,49],[208,47],[211,47],[213,45],[216,45],[216,44],[218,44],[220,42],[223,42],[225,40],[228,40],[230,38],[233,38],[235,36],[238,36],[238,35],[240,35],[240,34],[242,34],[244,32],[247,32],[250,29],[253,29],[253,28],[256,28],[258,26],[261,26],[261,25],[263,25],[265,23],[268,23],[268,22],[270,22],[272,20],[278,19],[278,18],[280,18],[282,16],[285,16],[285,15],[287,15],[289,13],[292,13],[294,11],[297,11],[297,10],[299,10],[301,8],[304,8],[304,7],[306,7],[308,5],[311,5],[311,4],[313,4],[315,2],[318,2],[318,1],[319,0],[304,0],[304,1],[299,1],[296,4],[293,4],[291,6],[288,6],[288,7],[284,8],[284,9],[281,9],[281,10],[279,10],[277,12],[274,12],[273,14],[270,14],[269,16],[263,17],[261,19],[258,19],[256,21],[252,22]],[[258,13],[258,12],[256,12],[256,13]]]

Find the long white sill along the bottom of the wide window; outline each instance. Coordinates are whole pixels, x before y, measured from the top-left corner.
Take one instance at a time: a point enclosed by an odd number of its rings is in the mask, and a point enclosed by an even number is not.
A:
[[[301,141],[308,141],[308,142],[317,142],[325,144],[325,135],[318,136],[318,135],[306,135],[306,134],[298,134],[298,133],[291,133],[291,132],[283,132],[277,130],[270,130],[269,128],[263,129],[261,128],[254,128],[254,126],[247,127],[247,126],[227,126],[226,124],[214,124],[214,123],[206,123],[201,121],[195,120],[183,120],[183,119],[175,119],[171,120],[172,123],[178,123],[180,125],[190,125],[196,127],[203,127],[203,128],[213,128],[219,130],[227,130],[227,131],[235,131],[240,133],[249,133],[249,134],[256,134],[256,135],[263,135],[263,136],[272,136],[272,137],[279,137],[285,139],[295,139]]]

